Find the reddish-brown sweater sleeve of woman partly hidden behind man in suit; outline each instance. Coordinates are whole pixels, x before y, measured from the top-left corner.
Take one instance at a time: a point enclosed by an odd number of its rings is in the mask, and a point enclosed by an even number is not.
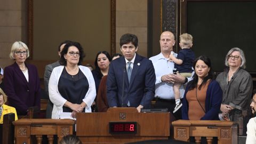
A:
[[[106,96],[107,95],[106,93],[107,77],[108,76],[103,76],[99,85],[99,90],[98,90],[97,100],[96,100],[99,112],[106,112],[109,108],[107,96]]]

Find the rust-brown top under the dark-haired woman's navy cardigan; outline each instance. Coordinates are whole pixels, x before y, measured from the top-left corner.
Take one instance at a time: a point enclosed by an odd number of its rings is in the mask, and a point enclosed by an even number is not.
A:
[[[205,98],[206,91],[209,85],[209,81],[201,87],[201,90],[198,90],[199,85],[197,85],[197,99],[201,103],[201,106],[205,110]],[[199,105],[196,99],[196,88],[188,91],[187,93],[187,101],[188,101],[188,117],[190,120],[200,120],[201,117],[205,115],[204,110]]]

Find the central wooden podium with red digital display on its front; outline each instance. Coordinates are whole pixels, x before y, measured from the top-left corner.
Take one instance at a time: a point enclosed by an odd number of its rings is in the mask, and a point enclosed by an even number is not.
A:
[[[170,135],[170,113],[138,113],[136,108],[78,113],[76,123],[76,135],[83,143],[127,143],[168,139]]]

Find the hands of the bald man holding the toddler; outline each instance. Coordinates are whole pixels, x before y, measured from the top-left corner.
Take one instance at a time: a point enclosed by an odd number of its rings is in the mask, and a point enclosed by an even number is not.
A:
[[[184,83],[185,77],[181,76],[179,73],[167,74],[161,77],[161,81],[166,83]]]

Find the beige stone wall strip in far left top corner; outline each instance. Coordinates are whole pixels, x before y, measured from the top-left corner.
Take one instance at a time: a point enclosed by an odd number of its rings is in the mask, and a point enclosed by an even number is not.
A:
[[[26,1],[0,0],[0,66],[13,63],[9,58],[11,46],[15,41],[27,42]]]

